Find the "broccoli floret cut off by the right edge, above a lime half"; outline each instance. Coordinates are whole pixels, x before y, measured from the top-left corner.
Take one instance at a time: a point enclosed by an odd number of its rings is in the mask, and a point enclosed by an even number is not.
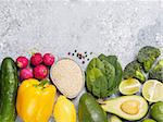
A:
[[[149,72],[149,78],[163,82],[163,59]]]

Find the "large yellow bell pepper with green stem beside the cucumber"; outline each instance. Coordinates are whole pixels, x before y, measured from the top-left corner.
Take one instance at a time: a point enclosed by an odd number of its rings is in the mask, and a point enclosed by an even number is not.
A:
[[[16,98],[17,114],[24,122],[48,122],[57,88],[35,78],[23,81]]]

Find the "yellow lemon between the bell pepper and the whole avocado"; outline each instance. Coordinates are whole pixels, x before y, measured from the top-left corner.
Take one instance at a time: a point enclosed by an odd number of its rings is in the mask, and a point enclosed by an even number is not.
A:
[[[74,103],[60,96],[54,105],[53,111],[55,122],[76,122],[76,110]]]

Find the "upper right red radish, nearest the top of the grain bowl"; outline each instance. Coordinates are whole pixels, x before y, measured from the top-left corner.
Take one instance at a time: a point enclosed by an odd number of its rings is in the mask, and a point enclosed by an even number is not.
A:
[[[52,65],[54,63],[54,57],[51,53],[45,53],[43,63],[48,66]]]

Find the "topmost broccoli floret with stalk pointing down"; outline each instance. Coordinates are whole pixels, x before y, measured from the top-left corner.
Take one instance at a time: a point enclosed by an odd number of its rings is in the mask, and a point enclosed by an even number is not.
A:
[[[148,72],[160,54],[160,49],[151,46],[146,46],[139,50],[137,59],[142,64],[145,72]]]

